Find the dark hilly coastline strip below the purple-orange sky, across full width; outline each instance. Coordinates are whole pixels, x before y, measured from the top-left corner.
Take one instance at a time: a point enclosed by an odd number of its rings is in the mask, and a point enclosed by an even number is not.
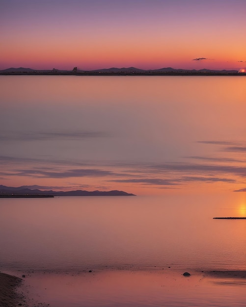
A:
[[[171,67],[156,70],[142,70],[135,67],[129,68],[107,68],[99,70],[35,70],[31,68],[8,68],[0,71],[0,76],[246,76],[245,72],[237,70],[187,70],[174,69]]]

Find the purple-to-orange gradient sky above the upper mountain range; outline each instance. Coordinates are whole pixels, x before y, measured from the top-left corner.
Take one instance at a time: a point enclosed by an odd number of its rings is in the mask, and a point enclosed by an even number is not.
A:
[[[245,0],[0,0],[0,70],[239,70],[245,17]]]

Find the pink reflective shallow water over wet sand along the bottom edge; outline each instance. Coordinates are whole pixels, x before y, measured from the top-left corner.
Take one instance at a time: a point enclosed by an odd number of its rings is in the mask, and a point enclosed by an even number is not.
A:
[[[30,299],[52,307],[243,306],[245,282],[177,271],[104,271],[27,278]]]

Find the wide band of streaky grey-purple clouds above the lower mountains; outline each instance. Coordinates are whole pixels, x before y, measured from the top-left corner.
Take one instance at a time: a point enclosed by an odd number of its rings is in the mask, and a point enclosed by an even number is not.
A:
[[[232,142],[200,141],[205,144],[228,145]],[[246,147],[239,147],[245,152]],[[238,148],[233,147],[233,150]],[[232,150],[232,149],[230,149]],[[246,178],[246,167],[235,162],[246,161],[231,158],[188,157],[188,162],[125,162],[125,161],[73,161],[45,160],[0,156],[0,176],[24,176],[36,179],[101,177],[105,182],[122,182],[158,187],[176,187],[189,181],[194,182],[242,182]],[[197,163],[195,163],[197,160]],[[234,165],[233,165],[234,164]],[[25,166],[24,166],[25,165]],[[27,167],[26,167],[27,165]],[[6,166],[6,167],[5,167]],[[24,169],[26,168],[26,169]],[[202,174],[202,176],[201,176]],[[84,187],[86,187],[84,185]],[[59,187],[57,187],[59,188]]]

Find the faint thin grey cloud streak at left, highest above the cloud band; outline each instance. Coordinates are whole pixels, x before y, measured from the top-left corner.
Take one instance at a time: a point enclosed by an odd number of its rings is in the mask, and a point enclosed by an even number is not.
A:
[[[0,141],[48,141],[48,140],[81,140],[89,138],[109,137],[102,131],[70,131],[70,132],[22,132],[0,134]]]

